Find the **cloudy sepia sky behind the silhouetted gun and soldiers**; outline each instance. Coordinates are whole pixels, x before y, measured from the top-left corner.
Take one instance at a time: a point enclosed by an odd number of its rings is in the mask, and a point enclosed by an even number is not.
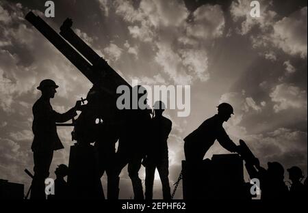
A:
[[[0,2],[0,178],[25,184],[32,171],[31,106],[42,79],[60,85],[51,101],[64,112],[92,86],[24,19],[33,10],[56,31],[65,18],[73,29],[129,83],[190,85],[191,112],[177,117],[168,140],[170,183],[181,171],[183,138],[229,102],[235,115],[224,124],[231,139],[244,139],[261,164],[279,161],[307,175],[307,1],[97,0],[55,2],[55,18],[44,17],[45,1]],[[53,171],[68,164],[71,128],[58,128],[64,150]],[[227,153],[216,142],[206,157]],[[144,168],[140,170],[144,179]],[[285,175],[287,177],[287,175]],[[105,177],[103,177],[104,188]],[[133,196],[127,169],[120,198]],[[181,185],[176,194],[181,198]],[[162,198],[156,174],[154,198]]]

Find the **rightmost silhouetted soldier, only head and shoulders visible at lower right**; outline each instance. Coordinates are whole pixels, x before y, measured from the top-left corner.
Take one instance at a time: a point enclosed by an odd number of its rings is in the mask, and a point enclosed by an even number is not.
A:
[[[289,179],[292,181],[290,188],[291,199],[304,199],[307,197],[307,192],[302,180],[304,178],[303,172],[299,167],[291,167],[287,169],[289,172]]]

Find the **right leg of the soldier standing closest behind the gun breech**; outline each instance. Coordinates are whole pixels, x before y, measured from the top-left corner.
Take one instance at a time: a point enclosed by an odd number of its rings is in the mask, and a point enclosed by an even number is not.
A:
[[[138,154],[131,156],[128,165],[128,173],[131,178],[131,184],[133,184],[134,199],[144,199],[142,182],[139,178],[138,172],[141,167],[142,157]]]

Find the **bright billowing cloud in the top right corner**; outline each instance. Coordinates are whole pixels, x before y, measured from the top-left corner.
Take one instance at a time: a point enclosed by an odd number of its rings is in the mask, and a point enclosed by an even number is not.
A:
[[[260,1],[260,17],[250,15],[251,1],[233,1],[231,15],[235,22],[241,23],[239,32],[242,35],[250,33],[253,27],[260,31],[259,35],[251,35],[253,45],[275,46],[290,55],[307,57],[307,7],[283,17],[279,16],[271,8],[270,1]]]

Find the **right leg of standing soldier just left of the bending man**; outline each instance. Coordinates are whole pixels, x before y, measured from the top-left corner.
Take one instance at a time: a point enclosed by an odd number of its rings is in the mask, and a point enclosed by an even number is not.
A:
[[[169,184],[169,162],[168,156],[164,157],[157,165],[160,180],[162,181],[163,198],[171,199],[170,184]]]

